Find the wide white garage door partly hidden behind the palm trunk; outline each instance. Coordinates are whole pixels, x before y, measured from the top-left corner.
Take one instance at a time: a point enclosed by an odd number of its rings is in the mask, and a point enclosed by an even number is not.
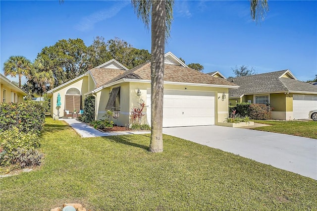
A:
[[[147,118],[151,123],[151,90],[147,91]],[[164,90],[163,127],[214,124],[214,92]]]

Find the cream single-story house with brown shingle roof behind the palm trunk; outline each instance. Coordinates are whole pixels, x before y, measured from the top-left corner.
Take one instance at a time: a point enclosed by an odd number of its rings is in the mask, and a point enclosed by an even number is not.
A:
[[[228,91],[237,85],[189,68],[172,53],[164,56],[163,127],[213,125],[228,116]],[[143,123],[151,123],[151,63],[128,70],[112,59],[48,92],[51,113],[57,114],[57,94],[61,109],[82,109],[87,95],[96,98],[95,119],[106,110],[119,113],[118,125],[130,123],[130,111],[145,103]]]

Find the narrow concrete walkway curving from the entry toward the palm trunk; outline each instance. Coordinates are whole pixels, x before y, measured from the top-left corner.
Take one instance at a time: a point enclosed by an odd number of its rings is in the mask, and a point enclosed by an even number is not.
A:
[[[102,136],[116,136],[116,135],[131,135],[131,134],[145,134],[150,133],[146,132],[109,132],[103,133],[95,128],[88,126],[76,119],[60,119],[69,124],[81,137],[83,138],[91,138],[91,137],[102,137]]]

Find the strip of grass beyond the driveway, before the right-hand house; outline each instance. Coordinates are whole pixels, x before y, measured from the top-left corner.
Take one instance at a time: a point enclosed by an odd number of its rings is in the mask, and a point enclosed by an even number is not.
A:
[[[271,126],[256,127],[253,130],[261,130],[274,133],[283,133],[294,136],[302,136],[317,139],[317,121],[271,121],[252,120],[261,124]]]

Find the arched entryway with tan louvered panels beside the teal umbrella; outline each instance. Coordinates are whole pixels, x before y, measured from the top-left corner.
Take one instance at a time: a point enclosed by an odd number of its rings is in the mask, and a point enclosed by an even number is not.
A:
[[[80,91],[70,88],[65,95],[65,110],[70,112],[79,111],[82,107]]]

